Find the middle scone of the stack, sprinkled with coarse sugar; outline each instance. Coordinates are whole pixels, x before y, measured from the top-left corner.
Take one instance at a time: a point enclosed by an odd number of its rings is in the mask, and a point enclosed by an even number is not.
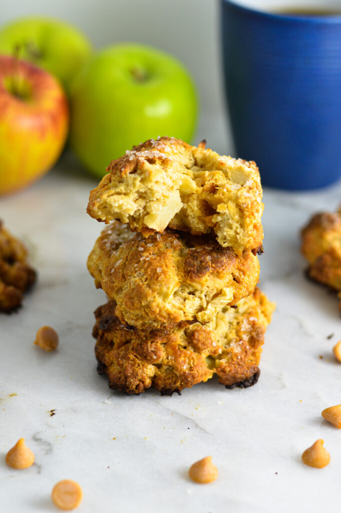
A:
[[[145,239],[114,222],[97,239],[88,269],[96,287],[116,301],[121,322],[160,328],[210,322],[253,291],[259,262],[251,250],[237,255],[204,236],[166,230]]]

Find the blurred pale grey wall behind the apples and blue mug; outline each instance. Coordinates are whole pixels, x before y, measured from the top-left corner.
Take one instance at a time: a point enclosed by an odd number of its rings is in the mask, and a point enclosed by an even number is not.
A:
[[[217,0],[0,0],[1,24],[42,14],[77,25],[96,48],[121,41],[155,46],[179,58],[200,98],[193,143],[233,154],[223,100]]]

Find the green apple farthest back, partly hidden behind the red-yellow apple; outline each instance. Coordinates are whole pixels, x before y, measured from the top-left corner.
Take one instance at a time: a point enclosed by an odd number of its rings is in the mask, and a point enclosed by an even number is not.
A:
[[[73,77],[91,55],[91,44],[77,28],[54,18],[20,18],[0,30],[0,53],[43,68],[69,92]]]

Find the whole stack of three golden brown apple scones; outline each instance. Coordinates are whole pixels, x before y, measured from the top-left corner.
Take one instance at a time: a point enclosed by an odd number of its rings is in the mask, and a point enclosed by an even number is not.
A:
[[[162,394],[217,374],[256,383],[274,305],[256,287],[262,187],[254,162],[159,137],[113,161],[88,213],[108,226],[88,269],[98,372],[110,388]]]

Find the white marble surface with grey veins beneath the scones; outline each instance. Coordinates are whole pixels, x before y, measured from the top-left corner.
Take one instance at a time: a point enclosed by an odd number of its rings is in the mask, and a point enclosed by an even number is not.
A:
[[[85,213],[95,181],[70,168],[64,159],[0,200],[0,217],[27,242],[39,272],[24,307],[0,317],[0,510],[56,511],[50,491],[70,478],[84,490],[79,513],[336,511],[341,431],[320,412],[341,403],[341,364],[331,354],[341,320],[336,297],[303,276],[298,230],[312,212],[336,208],[341,185],[265,191],[261,286],[277,310],[258,383],[226,390],[211,380],[182,396],[131,398],[96,373],[92,312],[105,296],[85,262],[102,225]],[[55,353],[33,345],[45,324],[59,333]],[[36,460],[16,471],[4,456],[20,437]],[[300,461],[317,438],[331,454],[321,470]],[[206,455],[219,478],[196,485],[187,470]]]

